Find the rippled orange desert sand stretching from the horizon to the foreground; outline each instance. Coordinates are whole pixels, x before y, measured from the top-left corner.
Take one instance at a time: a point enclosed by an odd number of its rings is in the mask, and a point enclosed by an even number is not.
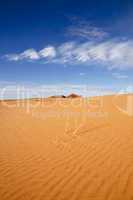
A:
[[[0,200],[133,199],[133,95],[0,102]]]

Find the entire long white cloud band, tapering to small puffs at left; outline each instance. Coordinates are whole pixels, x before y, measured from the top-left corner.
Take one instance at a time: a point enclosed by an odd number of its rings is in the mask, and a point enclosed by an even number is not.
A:
[[[20,54],[8,54],[5,57],[10,61],[42,59],[44,63],[96,63],[109,69],[133,69],[133,41],[67,42],[57,47],[50,45],[39,51],[28,49]]]

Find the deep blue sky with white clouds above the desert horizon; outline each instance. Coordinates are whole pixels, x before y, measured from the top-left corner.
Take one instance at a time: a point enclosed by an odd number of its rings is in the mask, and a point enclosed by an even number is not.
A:
[[[133,82],[132,24],[132,0],[0,2],[0,89],[126,88]]]

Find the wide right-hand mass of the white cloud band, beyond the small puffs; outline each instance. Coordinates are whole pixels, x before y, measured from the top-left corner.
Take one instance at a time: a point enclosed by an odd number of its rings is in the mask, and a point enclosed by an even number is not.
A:
[[[109,69],[133,69],[133,41],[84,42],[69,45],[69,49],[61,51],[56,62],[67,64],[96,63]]]

